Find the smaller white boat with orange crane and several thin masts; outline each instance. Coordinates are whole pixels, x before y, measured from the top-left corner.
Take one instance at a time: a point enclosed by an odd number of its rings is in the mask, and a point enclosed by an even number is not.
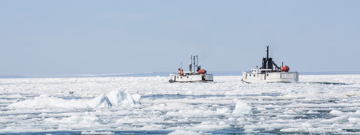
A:
[[[189,64],[189,72],[184,72],[181,67],[178,69],[177,75],[170,74],[170,80],[169,82],[175,83],[175,82],[208,82],[213,81],[214,77],[212,74],[207,74],[207,71],[204,69],[201,69],[201,65],[195,65],[195,56],[190,56],[191,62]],[[196,55],[196,61],[198,60],[198,56]],[[194,63],[193,63],[194,61]],[[193,63],[193,64],[192,64]],[[198,64],[198,62],[197,62]]]

